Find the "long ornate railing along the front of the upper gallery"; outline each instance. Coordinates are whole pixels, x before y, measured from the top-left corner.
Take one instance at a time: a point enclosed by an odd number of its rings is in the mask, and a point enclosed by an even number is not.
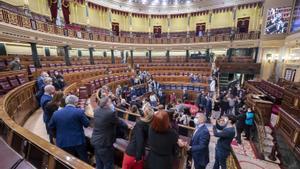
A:
[[[0,9],[0,22],[5,22],[14,26],[23,27],[31,30],[37,30],[40,32],[56,34],[59,36],[65,36],[70,38],[94,40],[94,41],[105,41],[105,42],[116,42],[116,43],[134,43],[134,44],[182,44],[182,43],[203,43],[203,42],[222,42],[222,41],[234,41],[234,40],[255,40],[259,39],[260,32],[253,31],[249,33],[238,33],[238,34],[216,34],[216,35],[205,35],[205,36],[192,36],[192,37],[162,37],[152,38],[147,35],[141,37],[130,37],[124,33],[123,36],[109,35],[107,31],[86,31],[81,30],[75,26],[59,27],[52,23],[34,20],[22,14],[17,14],[6,9]],[[99,28],[100,29],[100,28]]]

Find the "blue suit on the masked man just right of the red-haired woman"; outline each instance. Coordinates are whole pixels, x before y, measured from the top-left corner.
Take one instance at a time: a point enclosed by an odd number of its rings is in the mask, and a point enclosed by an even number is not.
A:
[[[206,166],[209,163],[210,134],[206,125],[197,129],[191,140],[191,153],[196,166]]]

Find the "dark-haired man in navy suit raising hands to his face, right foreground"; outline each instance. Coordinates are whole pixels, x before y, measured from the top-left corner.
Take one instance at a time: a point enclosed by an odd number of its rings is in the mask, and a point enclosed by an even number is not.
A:
[[[235,136],[235,121],[235,116],[227,115],[223,116],[218,122],[219,126],[221,126],[221,130],[217,130],[216,125],[213,126],[215,137],[219,137],[216,145],[215,164],[213,169],[219,169],[220,167],[226,169],[226,160],[230,154],[231,142]]]

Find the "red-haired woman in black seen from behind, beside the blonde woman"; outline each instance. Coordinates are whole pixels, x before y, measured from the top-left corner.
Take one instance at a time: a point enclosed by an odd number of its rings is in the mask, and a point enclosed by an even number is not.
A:
[[[147,169],[172,169],[177,142],[180,144],[177,132],[171,128],[168,113],[156,112],[148,134]]]

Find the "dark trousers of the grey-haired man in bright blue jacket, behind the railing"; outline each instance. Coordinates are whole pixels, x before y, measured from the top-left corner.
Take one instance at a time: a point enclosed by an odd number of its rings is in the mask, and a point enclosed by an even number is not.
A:
[[[73,156],[79,158],[80,160],[88,163],[88,154],[85,144],[72,147],[63,147],[62,149],[72,154]]]

